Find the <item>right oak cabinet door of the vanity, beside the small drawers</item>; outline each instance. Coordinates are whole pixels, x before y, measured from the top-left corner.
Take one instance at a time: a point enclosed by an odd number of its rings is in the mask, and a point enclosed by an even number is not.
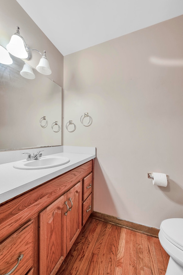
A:
[[[81,231],[82,181],[67,192],[67,253]]]

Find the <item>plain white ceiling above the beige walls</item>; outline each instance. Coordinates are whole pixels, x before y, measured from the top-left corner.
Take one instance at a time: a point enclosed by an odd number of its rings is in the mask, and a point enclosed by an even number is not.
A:
[[[182,0],[17,0],[65,56],[183,14]]]

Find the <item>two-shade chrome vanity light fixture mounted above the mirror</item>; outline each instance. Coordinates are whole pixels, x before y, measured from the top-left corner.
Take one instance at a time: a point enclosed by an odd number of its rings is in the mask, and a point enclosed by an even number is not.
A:
[[[17,26],[17,31],[11,36],[10,42],[7,44],[6,48],[8,52],[14,56],[30,60],[32,57],[31,51],[36,49],[30,49],[29,46],[27,46],[24,38],[20,35],[19,30],[20,28]],[[44,51],[44,54],[42,54],[39,50],[36,51],[42,55],[41,60],[36,67],[37,71],[43,75],[50,75],[51,69],[46,57],[46,52]]]

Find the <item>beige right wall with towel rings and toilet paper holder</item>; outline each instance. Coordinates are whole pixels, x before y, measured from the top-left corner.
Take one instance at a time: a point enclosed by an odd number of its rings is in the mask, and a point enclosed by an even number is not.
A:
[[[64,57],[63,127],[76,130],[63,144],[97,148],[95,211],[154,227],[183,217],[182,34],[180,16]]]

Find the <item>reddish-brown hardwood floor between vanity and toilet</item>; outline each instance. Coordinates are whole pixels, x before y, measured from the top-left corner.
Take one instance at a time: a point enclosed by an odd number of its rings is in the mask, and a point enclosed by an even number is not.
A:
[[[57,275],[165,275],[157,238],[89,218]]]

